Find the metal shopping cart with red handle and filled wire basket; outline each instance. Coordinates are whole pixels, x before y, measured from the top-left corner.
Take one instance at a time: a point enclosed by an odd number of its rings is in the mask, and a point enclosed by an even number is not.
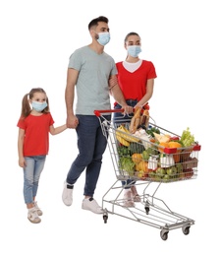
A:
[[[182,228],[184,234],[189,234],[194,221],[171,211],[167,204],[157,198],[155,194],[163,183],[196,178],[200,145],[194,142],[191,147],[187,148],[168,148],[166,143],[158,144],[150,131],[157,131],[161,138],[167,136],[173,142],[178,142],[181,137],[156,125],[154,121],[150,122],[149,120],[145,127],[144,135],[147,134],[147,137],[138,137],[138,133],[128,132],[131,119],[122,118],[113,122],[105,118],[107,113],[122,111],[121,109],[94,111],[100,120],[102,132],[108,142],[117,178],[102,198],[104,223],[107,223],[109,214],[114,214],[140,224],[159,228],[160,237],[163,240],[168,238],[170,230],[176,228]],[[140,127],[139,130],[142,128]],[[156,134],[154,133],[154,135]],[[122,185],[122,181],[128,179],[132,180],[131,182],[135,181],[138,190],[142,191],[138,193],[140,202],[132,208],[124,206],[125,200],[122,193],[125,187]],[[151,188],[153,190],[149,194],[148,191]]]

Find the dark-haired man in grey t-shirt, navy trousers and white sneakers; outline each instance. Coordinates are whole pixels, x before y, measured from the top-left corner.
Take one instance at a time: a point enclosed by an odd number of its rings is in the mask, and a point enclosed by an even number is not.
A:
[[[93,199],[93,194],[107,140],[93,110],[111,109],[110,94],[126,113],[133,112],[133,107],[126,103],[117,84],[117,69],[113,58],[104,52],[104,46],[110,40],[108,19],[103,16],[93,19],[88,24],[88,31],[92,38],[91,43],[71,55],[68,67],[65,91],[67,127],[77,131],[79,155],[67,174],[62,199],[65,205],[72,205],[74,184],[85,169],[82,208],[102,214],[103,210]],[[110,80],[115,81],[111,83],[111,88]],[[75,89],[78,99],[74,112]],[[110,120],[111,115],[106,115],[106,119]]]

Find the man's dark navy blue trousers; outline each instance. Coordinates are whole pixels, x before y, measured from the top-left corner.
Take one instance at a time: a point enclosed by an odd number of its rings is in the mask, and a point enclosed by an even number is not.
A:
[[[95,115],[77,115],[77,117],[79,155],[73,161],[66,181],[68,184],[75,184],[85,169],[83,195],[92,197],[101,169],[102,156],[107,146],[107,138],[103,135],[99,118]],[[105,118],[110,120],[111,115],[106,115]]]

